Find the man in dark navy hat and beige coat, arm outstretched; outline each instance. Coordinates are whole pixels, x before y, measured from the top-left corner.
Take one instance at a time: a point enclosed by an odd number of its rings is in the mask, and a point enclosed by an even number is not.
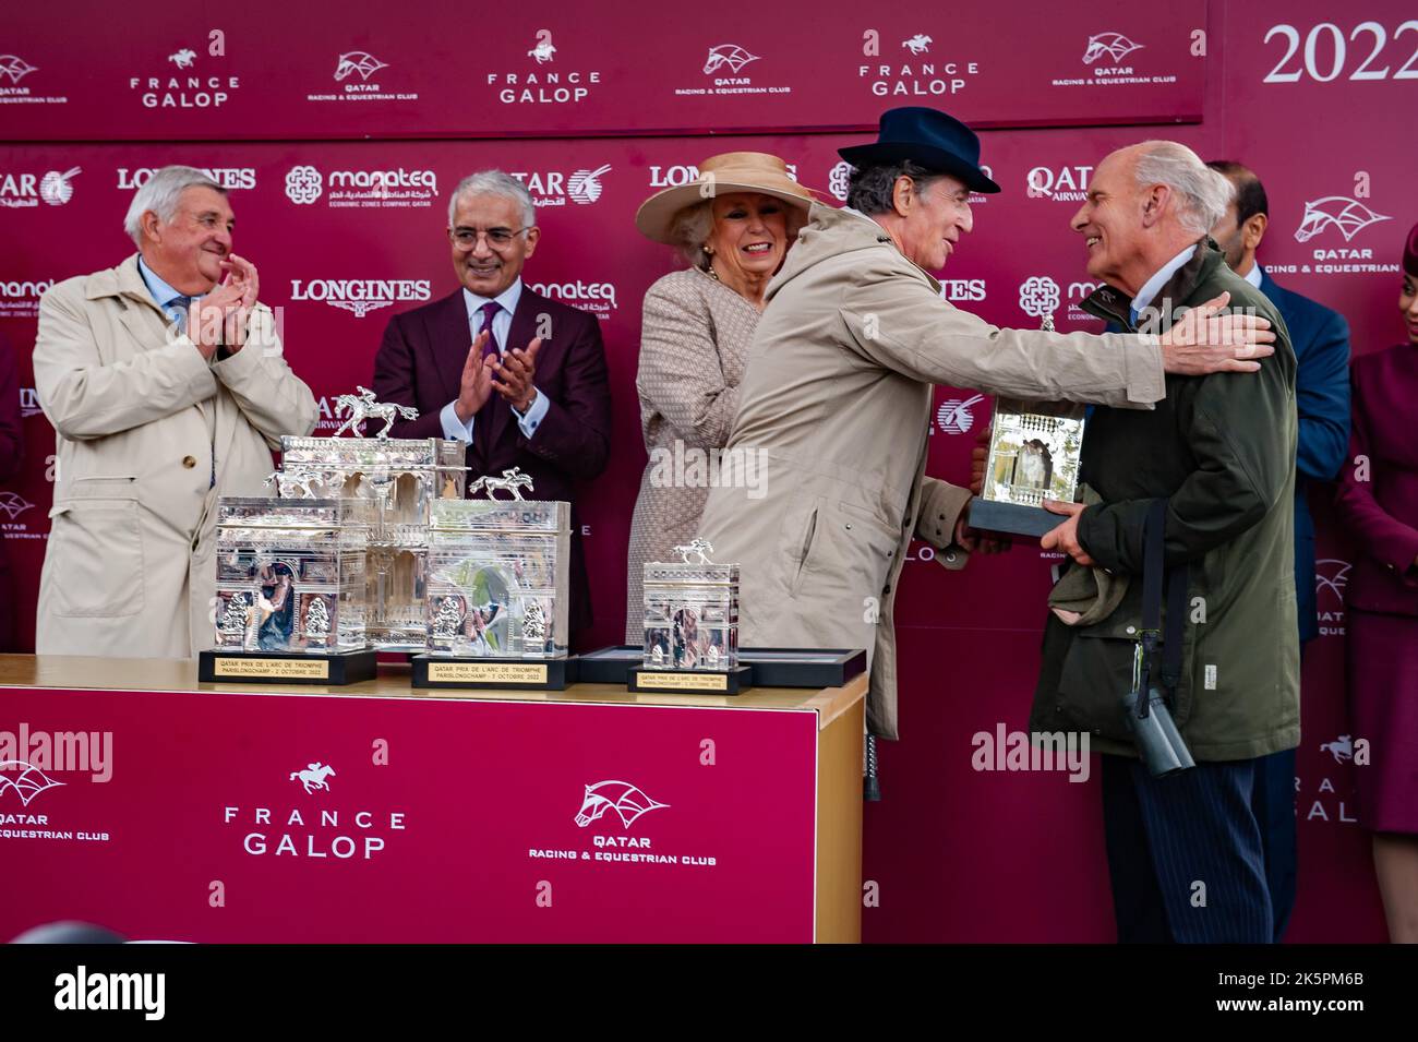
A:
[[[1163,373],[1254,371],[1269,323],[1214,318],[1163,337],[998,329],[940,298],[927,271],[970,231],[970,191],[998,191],[980,140],[943,112],[888,111],[848,208],[814,204],[767,289],[726,452],[757,452],[759,488],[710,489],[700,534],[742,564],[740,646],[865,648],[866,726],[898,737],[892,601],[913,537],[964,567],[968,489],[927,478],[932,384],[1150,408]],[[752,493],[752,495],[750,495]]]

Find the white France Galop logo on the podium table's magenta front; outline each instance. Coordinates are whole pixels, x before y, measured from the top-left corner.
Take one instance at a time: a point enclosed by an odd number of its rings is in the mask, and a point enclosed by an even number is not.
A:
[[[326,781],[330,777],[335,777],[335,770],[316,761],[286,780],[286,784],[298,780],[306,794],[320,795],[318,809],[303,797],[299,807],[292,804],[285,812],[271,807],[227,804],[221,808],[221,824],[250,828],[241,838],[241,849],[255,858],[271,855],[277,861],[285,855],[326,862],[372,861],[389,846],[396,832],[407,831],[407,811],[350,811],[330,805],[323,798],[330,791]]]

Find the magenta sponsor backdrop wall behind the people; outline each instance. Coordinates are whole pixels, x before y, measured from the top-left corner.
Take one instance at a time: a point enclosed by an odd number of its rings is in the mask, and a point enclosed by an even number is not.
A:
[[[1418,89],[1409,82],[1418,79],[1418,21],[1405,20],[1397,0],[1351,13],[1333,0],[1211,0],[1167,11],[1100,3],[1066,17],[1058,4],[1031,0],[949,16],[922,9],[889,21],[839,3],[727,3],[676,10],[654,33],[635,16],[593,17],[591,9],[564,3],[529,17],[499,13],[486,31],[462,28],[464,16],[451,6],[417,6],[427,17],[394,20],[374,4],[346,3],[333,18],[292,14],[299,24],[282,7],[282,24],[295,31],[264,27],[257,43],[250,30],[224,24],[221,6],[183,6],[182,31],[163,7],[177,10],[152,4],[142,24],[118,30],[96,14],[61,24],[51,11],[30,9],[0,35],[0,138],[11,142],[0,146],[0,230],[9,247],[0,251],[0,330],[20,357],[21,404],[31,417],[26,469],[0,493],[0,523],[26,641],[52,479],[52,434],[38,414],[28,362],[37,299],[51,281],[125,255],[121,223],[132,187],[164,163],[208,167],[233,187],[238,250],[261,267],[262,299],[284,308],[291,363],[322,403],[369,377],[390,315],[455,288],[442,228],[457,179],[486,166],[527,177],[545,227],[527,281],[604,320],[617,451],[583,499],[597,591],[593,637],[604,644],[623,632],[628,517],[645,462],[634,388],[640,302],[676,267],[668,250],[634,233],[631,218],[654,189],[688,179],[708,155],[774,152],[795,164],[803,183],[832,193],[841,187],[835,149],[862,135],[825,130],[865,126],[891,103],[937,103],[1000,128],[983,135],[984,162],[1004,191],[976,207],[974,234],[943,272],[947,293],[1001,325],[1032,325],[1020,308],[1020,285],[1046,276],[1065,301],[1061,327],[1082,329],[1093,323],[1066,308],[1088,292],[1068,218],[1088,174],[1120,145],[1176,138],[1261,173],[1272,218],[1262,261],[1283,285],[1341,310],[1356,353],[1401,336],[1397,261],[1418,213],[1412,155],[1395,121],[1412,111]],[[543,27],[556,50],[537,62],[529,51]],[[225,30],[224,55],[208,52],[211,28]],[[862,55],[868,30],[878,33],[879,60]],[[908,44],[916,37],[930,38],[916,41],[920,55]],[[1083,62],[1093,38],[1120,57]],[[194,52],[189,71],[172,60],[183,58],[183,48]],[[742,62],[737,75],[705,74],[710,48],[723,62]],[[342,54],[354,57],[336,79]],[[964,85],[932,86],[946,64],[970,61],[976,72],[946,77]],[[893,67],[885,79],[875,71],[881,62]],[[930,62],[936,71],[922,72]],[[206,77],[217,68],[240,84],[218,108],[147,109],[142,85],[129,86],[135,77]],[[454,75],[455,68],[474,71]],[[1113,71],[1123,68],[1132,71]],[[526,86],[527,75],[552,71],[567,74],[563,85],[573,71],[601,75],[594,91],[564,102],[502,102],[486,84],[489,72],[499,84],[520,77]],[[791,91],[674,94],[713,86],[715,78],[750,79],[726,91]],[[1085,82],[1055,85],[1071,79]],[[396,96],[308,101],[364,82]],[[886,94],[872,94],[873,82],[885,82]],[[1167,121],[1185,125],[1119,125]],[[725,128],[759,133],[705,136]],[[800,132],[778,133],[788,128]],[[383,140],[333,140],[363,135]],[[269,140],[250,140],[259,138]],[[397,186],[370,191],[372,172],[394,172]],[[1322,218],[1320,230],[1299,241],[1309,204],[1333,214],[1336,200],[1353,203],[1350,213],[1361,220]],[[370,295],[386,299],[363,316],[357,305],[332,306]],[[940,401],[970,397],[937,391]],[[988,400],[971,411],[968,430],[933,427],[932,472],[967,478]],[[1329,491],[1316,489],[1312,502],[1324,635],[1305,663],[1300,896],[1290,939],[1378,940],[1383,916],[1367,836],[1353,824],[1351,766],[1322,749],[1349,734],[1343,584],[1353,550],[1332,523]],[[929,553],[916,549],[900,587],[903,739],[883,744],[886,800],[866,808],[865,872],[879,885],[881,903],[865,910],[865,936],[1109,940],[1095,785],[970,768],[971,734],[997,723],[1025,726],[1054,561],[1017,547],[947,574]]]

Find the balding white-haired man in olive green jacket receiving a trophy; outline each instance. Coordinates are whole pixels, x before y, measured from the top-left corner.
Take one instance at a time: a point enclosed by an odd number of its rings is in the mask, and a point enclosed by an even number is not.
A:
[[[1082,481],[1100,502],[1054,503],[1044,537],[1072,568],[1126,584],[1105,618],[1055,611],[1044,634],[1034,732],[1088,732],[1103,753],[1103,819],[1120,941],[1268,943],[1271,902],[1251,809],[1258,758],[1300,736],[1295,621],[1295,352],[1273,305],[1207,237],[1229,183],[1185,146],[1144,142],[1099,164],[1073,230],[1105,284],[1083,308],[1126,330],[1163,332],[1221,292],[1276,330],[1255,376],[1167,376],[1153,411],[1099,407]],[[1143,532],[1166,500],[1163,557],[1185,566],[1180,675],[1170,707],[1195,758],[1153,778],[1137,758],[1123,696],[1143,628]],[[1176,604],[1170,601],[1168,604]],[[1096,612],[1093,612],[1096,614]],[[1180,614],[1180,612],[1178,612]],[[1167,631],[1166,618],[1163,631]],[[1160,656],[1166,654],[1166,648]]]

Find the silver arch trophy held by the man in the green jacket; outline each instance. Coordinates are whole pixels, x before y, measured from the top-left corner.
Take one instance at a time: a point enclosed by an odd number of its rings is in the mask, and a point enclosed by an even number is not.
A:
[[[1054,332],[1058,305],[1058,285],[1051,279],[1029,279],[1020,291],[1020,306],[1048,332]],[[970,500],[970,526],[1042,536],[1062,525],[1064,516],[1045,510],[1042,502],[1072,503],[1078,493],[1083,414],[1085,407],[1075,403],[995,398],[984,485]]]

